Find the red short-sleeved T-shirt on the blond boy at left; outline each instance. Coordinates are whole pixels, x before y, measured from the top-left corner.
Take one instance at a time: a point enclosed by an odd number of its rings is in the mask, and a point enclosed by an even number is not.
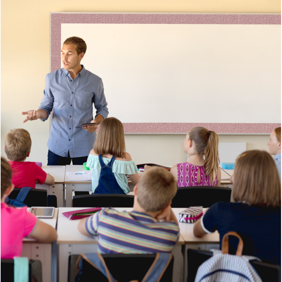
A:
[[[35,162],[9,161],[12,168],[12,183],[15,188],[32,187],[35,188],[36,181],[43,184],[47,173]]]

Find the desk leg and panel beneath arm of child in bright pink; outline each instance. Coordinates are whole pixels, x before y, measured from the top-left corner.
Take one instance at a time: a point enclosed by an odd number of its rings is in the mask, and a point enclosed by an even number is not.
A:
[[[52,244],[24,243],[21,256],[40,260],[42,264],[42,282],[51,282]]]

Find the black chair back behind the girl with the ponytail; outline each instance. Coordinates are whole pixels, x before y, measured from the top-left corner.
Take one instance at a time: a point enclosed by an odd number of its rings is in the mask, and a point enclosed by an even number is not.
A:
[[[230,198],[231,188],[211,186],[179,187],[172,200],[171,207],[210,207],[218,201],[230,202]]]

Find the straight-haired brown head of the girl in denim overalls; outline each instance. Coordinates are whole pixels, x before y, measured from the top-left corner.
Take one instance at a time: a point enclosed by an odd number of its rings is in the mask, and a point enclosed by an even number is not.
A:
[[[124,157],[123,124],[117,118],[102,120],[93,149],[98,155],[111,154],[117,158]]]

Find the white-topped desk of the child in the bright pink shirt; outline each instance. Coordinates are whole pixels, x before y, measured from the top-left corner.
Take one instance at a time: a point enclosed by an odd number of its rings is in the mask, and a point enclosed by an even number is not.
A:
[[[58,218],[58,208],[55,208],[53,218],[39,218],[56,228]],[[57,281],[57,245],[56,241],[53,243],[39,243],[32,238],[24,238],[22,257],[29,259],[38,259],[42,263],[42,281],[55,282]]]

